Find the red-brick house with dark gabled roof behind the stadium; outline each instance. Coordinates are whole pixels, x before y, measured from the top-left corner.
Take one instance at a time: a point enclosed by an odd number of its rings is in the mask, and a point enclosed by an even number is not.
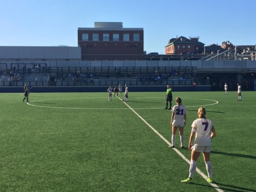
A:
[[[202,54],[204,52],[204,44],[198,40],[199,37],[186,38],[180,36],[172,38],[165,46],[165,54]]]

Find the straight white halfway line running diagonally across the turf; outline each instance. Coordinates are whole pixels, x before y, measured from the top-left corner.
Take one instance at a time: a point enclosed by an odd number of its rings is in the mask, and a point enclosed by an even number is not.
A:
[[[120,99],[120,98],[119,98]],[[125,101],[123,101],[123,103],[129,108],[131,109],[144,123],[146,123],[147,126],[149,126],[160,138],[162,138],[168,145],[171,145],[171,143],[165,139],[158,131],[156,131],[154,129],[153,126],[151,126],[151,124],[149,124],[145,119],[143,119],[136,111],[134,111],[133,108],[131,108],[130,105],[128,105]],[[188,164],[190,164],[190,161],[179,151],[177,150],[177,148],[173,148],[173,150],[179,154],[179,156],[181,156],[182,159],[184,159]],[[196,172],[201,175],[205,180],[208,178],[199,168],[196,169]],[[214,187],[217,191],[219,192],[224,192],[218,185],[214,184],[214,183],[209,183],[212,187]]]

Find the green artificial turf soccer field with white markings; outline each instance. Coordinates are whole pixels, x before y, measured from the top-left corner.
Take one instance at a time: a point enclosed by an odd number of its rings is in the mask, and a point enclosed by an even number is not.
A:
[[[106,88],[107,89],[107,88]],[[190,151],[169,148],[165,92],[1,93],[0,191],[256,191],[256,92],[173,92],[187,108],[184,143],[199,106],[214,122],[211,163],[193,183]]]

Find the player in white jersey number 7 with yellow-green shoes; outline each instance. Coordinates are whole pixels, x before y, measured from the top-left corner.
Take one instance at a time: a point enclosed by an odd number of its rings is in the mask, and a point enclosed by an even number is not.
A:
[[[206,111],[200,107],[198,109],[198,119],[192,123],[192,131],[189,137],[188,149],[191,151],[189,176],[182,180],[182,183],[191,183],[197,168],[197,159],[203,153],[206,170],[208,173],[207,182],[212,183],[212,165],[210,162],[211,139],[215,137],[214,123],[205,117]],[[196,135],[194,145],[192,140]]]

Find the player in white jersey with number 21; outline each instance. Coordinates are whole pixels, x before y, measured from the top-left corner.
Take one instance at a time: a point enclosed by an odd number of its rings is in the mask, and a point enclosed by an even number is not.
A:
[[[186,124],[186,114],[187,109],[184,105],[181,104],[181,98],[177,97],[175,99],[177,105],[175,105],[172,109],[172,119],[170,120],[170,125],[172,126],[172,145],[169,147],[174,148],[175,147],[175,139],[176,139],[176,133],[177,129],[179,128],[180,133],[180,147],[185,148],[184,145],[184,136],[183,136],[183,128]]]

